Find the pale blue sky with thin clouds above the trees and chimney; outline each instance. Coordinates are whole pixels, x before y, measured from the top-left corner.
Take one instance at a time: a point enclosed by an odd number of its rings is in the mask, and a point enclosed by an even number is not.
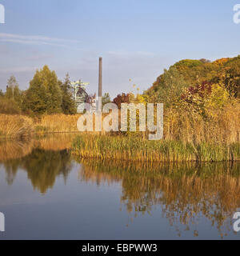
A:
[[[0,0],[0,90],[11,74],[25,90],[44,65],[58,78],[90,82],[112,97],[133,84],[148,89],[181,59],[210,60],[240,54],[240,0]]]

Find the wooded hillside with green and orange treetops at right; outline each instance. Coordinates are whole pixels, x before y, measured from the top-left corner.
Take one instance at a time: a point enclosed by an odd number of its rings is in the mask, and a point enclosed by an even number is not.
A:
[[[240,98],[240,55],[236,58],[221,58],[214,62],[204,58],[177,62],[170,66],[169,70],[165,70],[144,95],[148,102],[162,102],[165,107],[178,108],[181,95],[185,94],[187,88],[198,88],[206,82],[210,85],[221,85],[223,95],[230,94],[230,97]],[[227,92],[223,91],[222,86]],[[202,100],[201,97],[200,99]]]

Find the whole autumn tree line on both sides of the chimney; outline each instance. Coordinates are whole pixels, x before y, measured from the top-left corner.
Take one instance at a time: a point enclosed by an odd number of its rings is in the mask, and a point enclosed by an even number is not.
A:
[[[37,70],[28,90],[19,90],[18,82],[11,76],[6,93],[0,90],[0,113],[4,114],[76,114],[70,77],[60,81],[48,66]],[[94,96],[92,97],[94,98]],[[113,102],[121,107],[130,102],[161,102],[165,108],[190,106],[206,116],[206,109],[218,109],[233,99],[240,98],[240,55],[210,62],[182,60],[164,70],[153,86],[143,94],[118,94]],[[90,102],[88,98],[87,102]],[[105,94],[102,104],[110,102]]]

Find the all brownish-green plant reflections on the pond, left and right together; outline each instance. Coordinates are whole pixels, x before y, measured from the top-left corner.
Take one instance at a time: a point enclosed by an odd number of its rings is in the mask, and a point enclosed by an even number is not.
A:
[[[130,162],[96,162],[70,155],[70,137],[38,138],[29,142],[0,145],[0,163],[11,185],[18,171],[25,171],[34,190],[42,194],[54,187],[56,178],[67,180],[74,162],[81,163],[82,182],[122,184],[122,209],[133,217],[152,214],[161,207],[162,216],[181,235],[196,226],[203,216],[221,236],[232,230],[232,216],[240,206],[240,164],[238,162],[142,165]]]

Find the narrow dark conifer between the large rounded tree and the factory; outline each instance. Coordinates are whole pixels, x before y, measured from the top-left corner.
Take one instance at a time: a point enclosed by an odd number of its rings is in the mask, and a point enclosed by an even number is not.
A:
[[[77,108],[72,95],[72,87],[70,84],[69,74],[66,74],[65,81],[59,82],[62,91],[62,112],[64,114],[76,114]]]

